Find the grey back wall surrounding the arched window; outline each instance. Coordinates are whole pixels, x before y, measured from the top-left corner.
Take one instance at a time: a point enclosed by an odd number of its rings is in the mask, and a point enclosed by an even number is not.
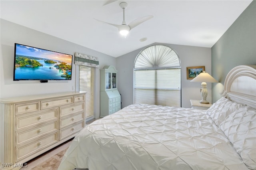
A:
[[[161,44],[161,43],[154,43]],[[151,44],[152,45],[152,44]],[[206,72],[211,74],[211,48],[193,47],[186,45],[164,44],[174,49],[181,61],[182,107],[190,108],[190,99],[201,99],[201,83],[192,83],[187,80],[186,67],[205,66]],[[150,46],[150,45],[148,45]],[[147,47],[148,47],[147,46]],[[121,93],[122,107],[133,104],[133,77],[134,61],[138,53],[146,47],[137,49],[116,58],[118,70],[118,90]],[[207,84],[209,102],[212,101],[212,85]]]

